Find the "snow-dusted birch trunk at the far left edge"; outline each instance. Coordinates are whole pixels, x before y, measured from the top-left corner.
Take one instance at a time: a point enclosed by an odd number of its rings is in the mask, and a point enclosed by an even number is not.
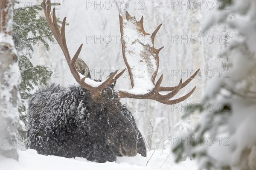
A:
[[[19,68],[17,52],[12,43],[12,20],[15,0],[1,0],[0,2],[0,153],[3,156],[18,160],[18,105]]]

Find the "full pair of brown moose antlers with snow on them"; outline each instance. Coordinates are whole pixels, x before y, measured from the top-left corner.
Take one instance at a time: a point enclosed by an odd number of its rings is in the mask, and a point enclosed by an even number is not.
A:
[[[44,13],[49,28],[60,45],[61,50],[63,51],[73,77],[83,88],[89,90],[93,96],[98,95],[102,89],[108,85],[111,85],[125,72],[125,69],[119,74],[117,74],[117,71],[115,71],[110,77],[108,77],[107,80],[103,82],[95,82],[94,80],[91,80],[89,73],[83,73],[84,76],[79,74],[76,69],[76,65],[78,65],[76,64],[76,61],[79,57],[83,44],[80,45],[75,56],[71,59],[65,37],[66,17],[62,22],[60,31],[56,19],[55,8],[53,8],[51,14],[50,0],[44,0]],[[135,99],[152,99],[167,105],[175,104],[187,99],[195,91],[195,88],[193,88],[192,91],[183,97],[170,100],[180,91],[181,88],[185,87],[198,74],[199,69],[185,82],[182,83],[182,79],[180,79],[180,83],[175,87],[160,87],[163,80],[163,74],[160,76],[157,82],[154,83],[159,67],[158,54],[163,48],[154,48],[154,37],[156,36],[157,31],[160,29],[161,24],[152,34],[148,34],[143,28],[143,17],[140,19],[140,21],[137,21],[135,17],[131,17],[130,14],[126,12],[126,19],[124,20],[122,16],[119,15],[119,21],[122,40],[122,53],[125,64],[128,68],[132,86],[131,90],[119,90],[120,98],[128,97]],[[135,39],[134,35],[136,36]],[[124,40],[125,36],[128,38],[127,41]],[[143,41],[139,40],[141,38]],[[83,65],[86,65],[86,63],[84,62]],[[140,71],[145,71],[143,77],[140,77]],[[171,92],[168,94],[160,94],[160,91]]]

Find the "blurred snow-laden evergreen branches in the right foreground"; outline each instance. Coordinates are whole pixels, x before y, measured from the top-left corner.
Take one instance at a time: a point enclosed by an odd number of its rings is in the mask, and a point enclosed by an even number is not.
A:
[[[177,161],[187,153],[203,169],[256,169],[256,1],[232,0],[229,8],[213,11],[203,26],[205,32],[220,23],[238,32],[240,40],[219,55],[230,58],[229,78],[208,82],[203,102],[214,109],[203,110],[195,130],[187,133],[202,140],[179,142],[172,150]]]

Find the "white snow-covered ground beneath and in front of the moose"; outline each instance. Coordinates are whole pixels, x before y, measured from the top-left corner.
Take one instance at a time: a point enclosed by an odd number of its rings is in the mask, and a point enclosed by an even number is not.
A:
[[[162,150],[156,150],[154,154],[153,152],[154,150],[149,151],[147,153],[147,158],[137,154],[137,156],[134,157],[118,157],[116,162],[96,163],[79,157],[76,157],[75,159],[68,159],[59,156],[39,155],[36,150],[32,149],[26,151],[19,150],[19,161],[1,156],[0,169],[198,169],[196,161],[191,161],[189,158],[179,164],[175,163],[174,157],[172,154],[169,154],[169,150],[163,150],[163,152]],[[150,161],[146,166],[149,159]]]

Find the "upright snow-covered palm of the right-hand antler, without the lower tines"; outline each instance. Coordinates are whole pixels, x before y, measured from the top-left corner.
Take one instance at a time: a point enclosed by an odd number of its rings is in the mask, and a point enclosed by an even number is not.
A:
[[[152,90],[159,67],[158,53],[163,48],[154,48],[154,37],[159,30],[152,34],[145,32],[143,17],[139,21],[126,12],[126,19],[119,14],[122,39],[122,53],[128,68],[132,88]]]

